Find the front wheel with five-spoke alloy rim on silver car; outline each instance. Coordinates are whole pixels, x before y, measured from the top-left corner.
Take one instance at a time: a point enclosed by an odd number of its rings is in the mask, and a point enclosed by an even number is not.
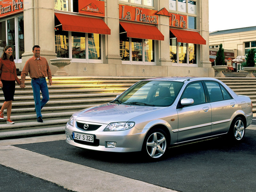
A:
[[[143,155],[150,160],[162,159],[168,149],[167,134],[162,129],[152,129],[147,133],[143,145]]]

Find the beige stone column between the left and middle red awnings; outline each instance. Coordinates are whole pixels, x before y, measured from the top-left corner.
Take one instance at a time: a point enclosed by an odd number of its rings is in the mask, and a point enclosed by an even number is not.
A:
[[[105,0],[105,22],[111,30],[111,35],[105,35],[104,63],[122,64],[119,48],[119,9],[118,0]],[[104,52],[103,52],[104,55]],[[104,58],[104,57],[103,57]]]

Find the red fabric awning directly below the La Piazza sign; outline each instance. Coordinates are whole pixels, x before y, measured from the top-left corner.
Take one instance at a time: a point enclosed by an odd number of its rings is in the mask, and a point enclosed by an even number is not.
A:
[[[127,37],[164,40],[163,34],[158,30],[158,28],[156,28],[156,26],[126,22],[119,23],[127,32]]]

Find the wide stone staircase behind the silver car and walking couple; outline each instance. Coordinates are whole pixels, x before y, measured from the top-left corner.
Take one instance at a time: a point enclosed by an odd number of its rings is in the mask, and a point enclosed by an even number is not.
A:
[[[15,124],[0,120],[0,139],[40,134],[63,133],[69,117],[76,111],[109,102],[136,82],[149,77],[53,76],[48,86],[50,100],[42,109],[44,123],[37,123],[30,78],[24,89],[16,85],[11,118]],[[256,78],[218,78],[237,94],[248,95],[256,112]],[[0,107],[4,102],[0,89]]]

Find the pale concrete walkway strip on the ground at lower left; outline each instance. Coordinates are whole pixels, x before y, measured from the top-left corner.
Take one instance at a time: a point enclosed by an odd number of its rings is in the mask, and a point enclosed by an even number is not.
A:
[[[175,192],[143,181],[12,146],[63,139],[65,134],[0,140],[0,164],[77,192]]]

